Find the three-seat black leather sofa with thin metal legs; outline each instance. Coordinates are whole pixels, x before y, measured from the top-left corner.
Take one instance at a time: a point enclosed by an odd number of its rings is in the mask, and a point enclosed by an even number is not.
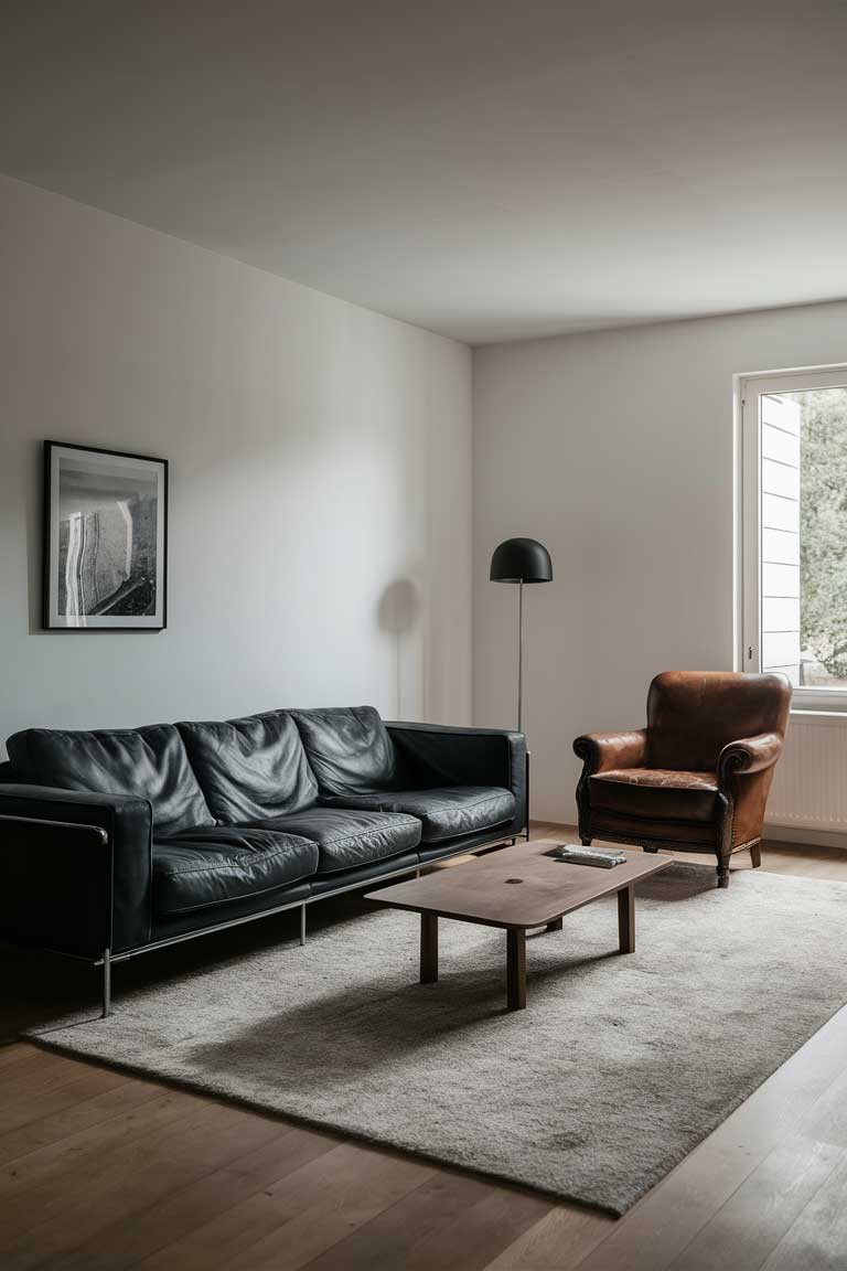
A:
[[[521,733],[372,707],[102,732],[29,728],[0,765],[0,935],[110,965],[527,825]]]

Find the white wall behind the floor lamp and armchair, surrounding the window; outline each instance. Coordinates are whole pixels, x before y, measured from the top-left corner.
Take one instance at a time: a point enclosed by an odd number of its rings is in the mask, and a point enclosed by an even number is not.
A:
[[[847,361],[847,302],[475,352],[475,718],[514,714],[500,539],[545,541],[528,588],[533,815],[574,817],[585,730],[640,726],[650,677],[731,669],[733,376]]]

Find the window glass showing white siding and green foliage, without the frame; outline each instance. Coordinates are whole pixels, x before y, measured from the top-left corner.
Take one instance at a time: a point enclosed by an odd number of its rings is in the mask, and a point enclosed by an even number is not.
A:
[[[762,666],[847,690],[847,389],[763,394],[761,427]]]

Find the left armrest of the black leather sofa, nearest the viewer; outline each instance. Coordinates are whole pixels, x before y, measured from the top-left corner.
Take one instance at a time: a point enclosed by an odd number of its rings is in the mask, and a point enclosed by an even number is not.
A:
[[[127,794],[0,784],[0,925],[84,956],[150,941],[152,807]],[[104,937],[108,939],[104,941]]]

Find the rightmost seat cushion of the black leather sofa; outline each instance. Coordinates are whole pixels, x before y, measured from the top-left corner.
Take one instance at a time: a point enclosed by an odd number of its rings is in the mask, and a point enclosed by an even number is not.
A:
[[[465,834],[494,829],[514,816],[514,794],[499,785],[439,785],[424,791],[372,791],[370,794],[328,799],[333,807],[373,808],[377,812],[408,812],[422,826],[424,843],[441,843]]]

